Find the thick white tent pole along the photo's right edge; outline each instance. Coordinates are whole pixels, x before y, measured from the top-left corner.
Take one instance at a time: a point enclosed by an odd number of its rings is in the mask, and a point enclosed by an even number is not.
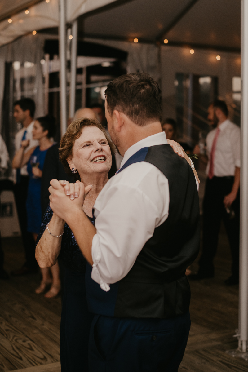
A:
[[[241,185],[239,349],[247,349],[248,322],[248,0],[241,0]]]

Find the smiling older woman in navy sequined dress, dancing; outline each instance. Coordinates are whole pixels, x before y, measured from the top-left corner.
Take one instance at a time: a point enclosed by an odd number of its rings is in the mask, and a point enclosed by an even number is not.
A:
[[[108,180],[114,146],[96,119],[77,119],[61,139],[60,160],[77,182],[92,185],[83,211],[94,224],[92,208]],[[70,195],[70,185],[60,181]],[[86,187],[87,189],[87,187]],[[74,198],[74,197],[73,197]],[[88,371],[88,338],[94,314],[88,311],[85,289],[86,259],[73,232],[49,207],[41,224],[36,246],[39,266],[51,267],[60,257],[65,266],[65,286],[60,328],[61,372]]]

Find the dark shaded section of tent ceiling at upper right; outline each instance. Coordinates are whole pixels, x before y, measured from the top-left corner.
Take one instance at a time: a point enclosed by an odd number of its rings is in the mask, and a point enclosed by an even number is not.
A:
[[[172,21],[191,8],[166,33]],[[155,42],[168,45],[197,44],[226,50],[240,48],[241,4],[237,0],[133,0],[113,9],[80,17],[79,30],[86,36]]]

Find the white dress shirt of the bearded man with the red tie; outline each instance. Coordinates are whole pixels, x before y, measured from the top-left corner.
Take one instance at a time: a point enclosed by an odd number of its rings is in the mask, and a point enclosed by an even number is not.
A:
[[[226,119],[218,127],[220,129],[216,142],[214,158],[214,175],[216,177],[234,176],[235,167],[240,167],[240,128]],[[209,173],[210,154],[217,128],[206,138],[208,163],[206,174]]]

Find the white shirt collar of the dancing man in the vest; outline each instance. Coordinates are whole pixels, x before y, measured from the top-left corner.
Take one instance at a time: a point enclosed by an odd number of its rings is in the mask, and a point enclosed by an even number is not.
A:
[[[141,150],[143,147],[151,147],[155,145],[167,145],[167,139],[165,132],[160,132],[153,134],[152,136],[143,138],[143,140],[136,142],[134,145],[130,146],[128,150],[126,150],[122,162],[120,163],[120,168],[126,163],[126,161],[131,158],[133,154],[137,151]]]

